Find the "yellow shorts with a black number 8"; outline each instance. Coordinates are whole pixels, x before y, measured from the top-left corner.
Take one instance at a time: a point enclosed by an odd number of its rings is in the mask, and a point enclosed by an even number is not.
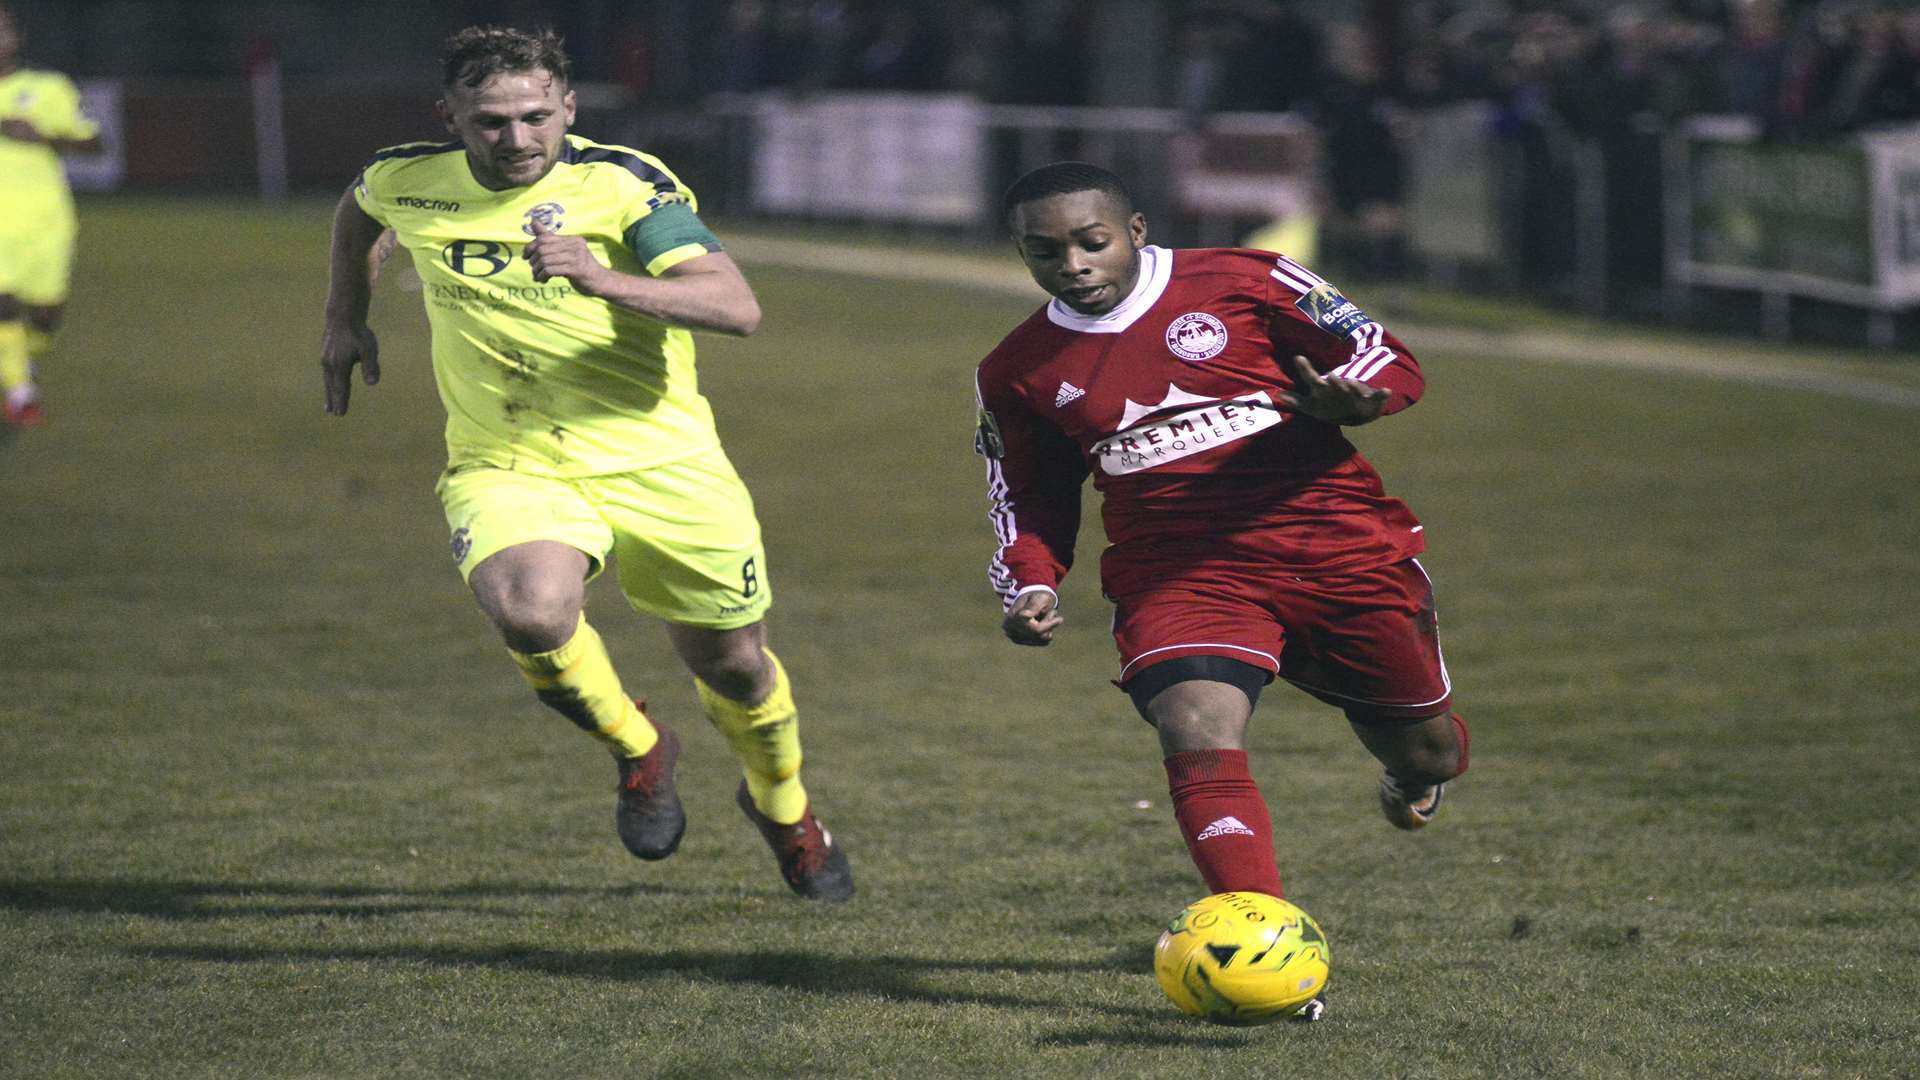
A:
[[[461,577],[503,548],[559,540],[591,559],[589,577],[612,553],[628,603],[670,623],[732,630],[758,623],[774,601],[753,496],[718,446],[572,480],[459,465],[436,490]]]

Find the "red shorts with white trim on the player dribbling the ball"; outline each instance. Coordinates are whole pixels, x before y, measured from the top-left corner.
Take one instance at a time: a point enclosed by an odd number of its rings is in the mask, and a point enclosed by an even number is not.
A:
[[[1452,703],[1419,559],[1319,577],[1183,567],[1114,598],[1114,644],[1119,686],[1160,661],[1221,655],[1350,713],[1421,719]]]

